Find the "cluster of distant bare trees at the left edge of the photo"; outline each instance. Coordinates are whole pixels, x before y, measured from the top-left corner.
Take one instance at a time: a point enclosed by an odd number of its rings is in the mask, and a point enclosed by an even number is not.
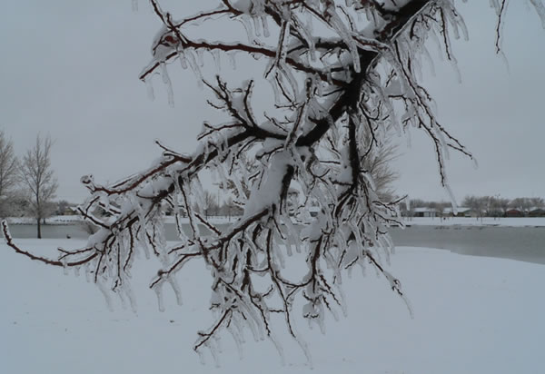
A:
[[[38,134],[35,144],[17,157],[13,141],[0,130],[0,217],[34,217],[38,238],[42,222],[55,211],[58,182],[51,167],[52,146],[49,136]]]

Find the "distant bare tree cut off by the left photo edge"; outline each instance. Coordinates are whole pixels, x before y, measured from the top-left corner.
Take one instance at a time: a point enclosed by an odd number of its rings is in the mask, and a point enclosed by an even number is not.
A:
[[[14,143],[0,130],[0,217],[9,214],[9,201],[17,184],[17,157]]]

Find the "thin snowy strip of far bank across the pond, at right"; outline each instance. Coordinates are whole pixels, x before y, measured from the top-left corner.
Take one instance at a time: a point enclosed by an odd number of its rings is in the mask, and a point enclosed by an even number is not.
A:
[[[427,226],[545,226],[545,217],[510,217],[510,218],[492,218],[483,217],[451,217],[445,220],[441,218],[412,217],[404,218],[406,225],[427,225]]]

